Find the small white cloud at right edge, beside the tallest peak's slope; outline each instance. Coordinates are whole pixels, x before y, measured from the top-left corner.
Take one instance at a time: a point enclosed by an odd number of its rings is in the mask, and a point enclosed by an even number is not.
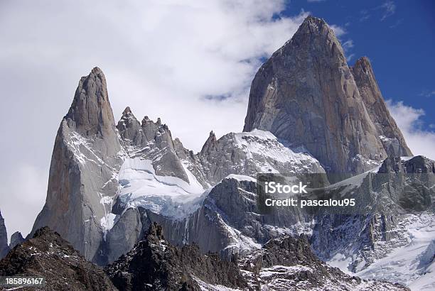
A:
[[[424,155],[435,160],[435,131],[427,131],[422,127],[423,109],[415,109],[403,104],[403,101],[387,100],[388,109],[402,130],[405,140],[414,155]],[[430,126],[429,126],[430,128]]]

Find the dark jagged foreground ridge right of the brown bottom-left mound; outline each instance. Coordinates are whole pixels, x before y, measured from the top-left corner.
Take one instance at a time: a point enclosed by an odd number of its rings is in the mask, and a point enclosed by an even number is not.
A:
[[[331,268],[314,256],[306,236],[275,239],[224,261],[216,253],[201,254],[195,245],[171,246],[157,224],[104,270],[119,290],[407,290]]]

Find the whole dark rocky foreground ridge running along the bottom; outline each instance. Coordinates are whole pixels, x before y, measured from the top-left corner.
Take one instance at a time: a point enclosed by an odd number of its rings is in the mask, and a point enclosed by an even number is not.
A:
[[[38,229],[0,261],[0,275],[45,278],[44,285],[21,290],[407,290],[331,268],[314,256],[306,236],[275,239],[227,261],[196,245],[172,246],[155,223],[104,272],[59,234]]]

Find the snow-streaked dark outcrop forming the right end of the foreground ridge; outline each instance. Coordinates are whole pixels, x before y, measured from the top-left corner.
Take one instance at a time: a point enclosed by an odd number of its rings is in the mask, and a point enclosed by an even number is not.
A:
[[[269,241],[239,264],[254,290],[409,290],[390,282],[361,280],[326,265],[314,256],[304,235]]]

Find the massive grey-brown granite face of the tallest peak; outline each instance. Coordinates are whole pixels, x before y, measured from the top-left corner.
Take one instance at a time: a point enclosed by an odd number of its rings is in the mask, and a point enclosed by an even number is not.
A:
[[[244,131],[253,128],[305,147],[327,172],[364,172],[387,157],[339,41],[311,16],[255,75]]]

